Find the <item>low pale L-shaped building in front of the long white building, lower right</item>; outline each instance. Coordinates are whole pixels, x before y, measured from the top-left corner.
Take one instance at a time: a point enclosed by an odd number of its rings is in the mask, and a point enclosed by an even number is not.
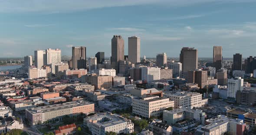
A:
[[[167,125],[174,125],[185,119],[196,119],[197,122],[204,125],[205,117],[206,113],[200,109],[178,108],[171,111],[164,110],[163,112],[163,122]]]

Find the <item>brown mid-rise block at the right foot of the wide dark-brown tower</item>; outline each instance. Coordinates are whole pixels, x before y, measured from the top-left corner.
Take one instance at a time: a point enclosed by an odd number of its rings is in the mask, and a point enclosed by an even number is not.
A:
[[[187,83],[198,84],[198,87],[204,88],[207,85],[207,71],[196,70],[187,72]]]

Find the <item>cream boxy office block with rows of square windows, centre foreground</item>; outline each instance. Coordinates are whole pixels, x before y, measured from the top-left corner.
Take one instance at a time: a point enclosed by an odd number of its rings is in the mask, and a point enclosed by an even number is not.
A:
[[[146,96],[132,99],[132,113],[144,118],[158,117],[169,107],[174,107],[174,101],[167,97]]]

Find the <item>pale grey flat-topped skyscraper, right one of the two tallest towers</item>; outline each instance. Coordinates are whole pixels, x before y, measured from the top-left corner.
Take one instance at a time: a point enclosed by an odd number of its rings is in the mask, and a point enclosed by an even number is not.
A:
[[[141,62],[141,38],[137,36],[128,37],[128,57],[131,63]]]

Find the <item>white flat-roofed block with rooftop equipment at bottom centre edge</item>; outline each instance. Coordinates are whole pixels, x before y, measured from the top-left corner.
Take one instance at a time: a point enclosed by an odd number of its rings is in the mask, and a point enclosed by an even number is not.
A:
[[[84,119],[84,127],[88,127],[92,135],[105,135],[106,132],[130,134],[134,132],[134,124],[118,114],[96,114]]]

